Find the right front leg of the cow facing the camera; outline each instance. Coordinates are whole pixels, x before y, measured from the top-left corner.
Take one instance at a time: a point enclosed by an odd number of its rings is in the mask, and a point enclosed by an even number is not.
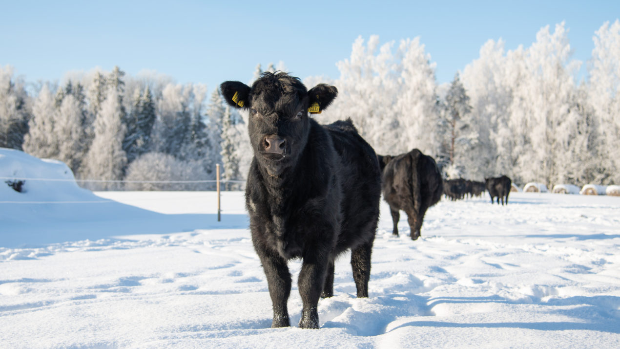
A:
[[[298,287],[303,304],[299,327],[301,329],[318,329],[319,312],[317,306],[329,264],[327,255],[329,249],[309,248],[308,250],[310,252],[304,254],[303,265],[299,272]]]

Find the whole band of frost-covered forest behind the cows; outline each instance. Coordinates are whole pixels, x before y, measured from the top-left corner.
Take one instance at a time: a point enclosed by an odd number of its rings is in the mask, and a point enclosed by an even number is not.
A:
[[[604,23],[593,43],[582,62],[571,58],[564,23],[539,30],[529,47],[489,40],[451,83],[438,84],[419,38],[359,37],[336,63],[338,79],[304,84],[339,89],[313,116],[319,122],[350,117],[378,154],[419,148],[448,177],[620,184],[620,22]],[[578,79],[583,64],[587,76]],[[283,63],[266,70],[287,71]],[[258,65],[244,82],[262,71]],[[28,84],[0,67],[0,147],[61,160],[90,189],[213,189],[201,181],[215,179],[216,163],[224,179],[243,180],[252,152],[246,113],[211,87],[118,67]]]

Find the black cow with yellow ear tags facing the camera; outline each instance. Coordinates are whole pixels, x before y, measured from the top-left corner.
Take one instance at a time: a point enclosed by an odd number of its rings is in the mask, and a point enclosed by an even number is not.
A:
[[[249,110],[254,158],[246,185],[252,243],[273,303],[272,327],[290,326],[288,260],[302,258],[299,327],[318,329],[319,297],[334,294],[334,260],[350,249],[358,297],[368,297],[370,255],[379,217],[381,172],[351,120],[319,125],[334,86],[309,91],[286,73],[263,73],[250,88],[222,83],[228,104]]]

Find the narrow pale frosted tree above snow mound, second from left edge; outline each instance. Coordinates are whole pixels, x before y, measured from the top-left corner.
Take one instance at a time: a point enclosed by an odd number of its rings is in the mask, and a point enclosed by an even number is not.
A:
[[[56,107],[48,84],[43,84],[32,106],[29,131],[24,136],[24,152],[38,158],[58,155],[58,137],[54,133]]]

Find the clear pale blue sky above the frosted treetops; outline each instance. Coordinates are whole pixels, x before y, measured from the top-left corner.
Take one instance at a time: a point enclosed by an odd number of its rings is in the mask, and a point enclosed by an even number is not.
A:
[[[0,0],[0,65],[26,81],[61,80],[99,66],[142,70],[179,83],[247,82],[258,63],[293,75],[338,78],[361,35],[381,43],[420,37],[438,83],[479,57],[489,39],[508,50],[565,21],[573,58],[620,17],[620,1],[6,1]]]

